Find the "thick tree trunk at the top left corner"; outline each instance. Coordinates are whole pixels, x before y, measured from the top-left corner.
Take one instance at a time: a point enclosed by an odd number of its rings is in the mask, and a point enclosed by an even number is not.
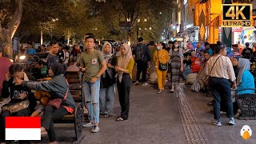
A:
[[[15,0],[16,10],[8,25],[7,29],[3,28],[0,24],[0,38],[2,39],[2,52],[7,58],[13,58],[13,42],[12,38],[18,25],[22,20],[22,2],[23,0]]]

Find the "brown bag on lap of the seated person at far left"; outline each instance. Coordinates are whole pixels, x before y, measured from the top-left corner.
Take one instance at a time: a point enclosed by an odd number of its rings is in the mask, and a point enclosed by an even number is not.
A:
[[[30,105],[30,101],[26,100],[26,101],[15,103],[14,105],[11,105],[11,106],[2,106],[2,111],[9,110],[10,114],[12,114],[20,110],[26,109],[29,105]]]

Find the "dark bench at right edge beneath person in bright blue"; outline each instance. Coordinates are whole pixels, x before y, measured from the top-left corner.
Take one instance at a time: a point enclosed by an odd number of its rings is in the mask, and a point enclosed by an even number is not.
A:
[[[256,94],[241,94],[235,96],[238,107],[242,112],[239,119],[256,119]]]

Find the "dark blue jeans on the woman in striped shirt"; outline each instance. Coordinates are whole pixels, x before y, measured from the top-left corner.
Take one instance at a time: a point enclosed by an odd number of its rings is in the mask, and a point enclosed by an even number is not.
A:
[[[210,78],[209,86],[212,93],[214,94],[214,119],[220,121],[221,99],[225,101],[224,103],[226,104],[228,118],[234,118],[230,81],[225,78],[212,77]]]

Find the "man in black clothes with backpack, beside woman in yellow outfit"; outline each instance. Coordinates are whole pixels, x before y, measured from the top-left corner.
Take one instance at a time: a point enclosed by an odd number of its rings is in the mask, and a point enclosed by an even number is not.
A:
[[[146,86],[146,71],[151,58],[148,46],[143,44],[143,38],[138,38],[138,46],[134,48],[134,55],[137,63],[137,75],[135,85],[139,84],[138,81],[142,73],[142,86]]]

